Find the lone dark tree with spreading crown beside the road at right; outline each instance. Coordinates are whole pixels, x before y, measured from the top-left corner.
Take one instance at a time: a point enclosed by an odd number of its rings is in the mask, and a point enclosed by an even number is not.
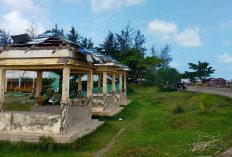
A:
[[[209,67],[209,63],[198,61],[198,64],[189,63],[189,69],[192,69],[194,72],[190,72],[195,78],[200,80],[210,77],[214,73],[213,67]]]

